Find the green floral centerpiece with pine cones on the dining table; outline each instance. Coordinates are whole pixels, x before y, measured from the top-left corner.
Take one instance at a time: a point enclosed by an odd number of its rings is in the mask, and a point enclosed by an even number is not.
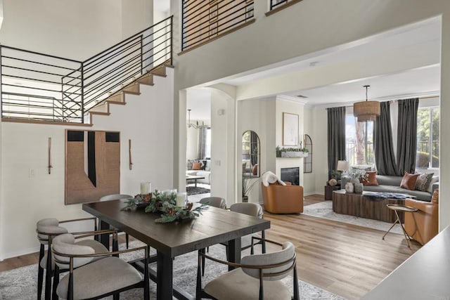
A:
[[[176,206],[176,193],[172,192],[155,192],[136,195],[133,199],[129,199],[125,202],[127,204],[122,210],[128,210],[133,207],[145,207],[146,212],[158,212],[160,211],[161,218],[156,219],[156,223],[169,223],[182,219],[195,219],[201,214],[203,209],[207,208],[207,205],[201,205],[200,207],[193,208],[193,203],[188,202],[186,206]]]

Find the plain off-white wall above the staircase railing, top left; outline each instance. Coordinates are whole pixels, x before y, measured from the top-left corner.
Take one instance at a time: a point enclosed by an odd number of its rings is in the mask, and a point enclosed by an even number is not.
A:
[[[86,60],[152,24],[152,0],[4,0],[0,42]]]

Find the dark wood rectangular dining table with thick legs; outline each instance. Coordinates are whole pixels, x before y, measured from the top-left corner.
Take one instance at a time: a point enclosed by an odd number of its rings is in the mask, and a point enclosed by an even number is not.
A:
[[[156,249],[157,299],[193,299],[173,285],[173,259],[175,256],[205,249],[214,244],[228,242],[229,261],[240,262],[240,237],[270,228],[270,221],[226,209],[209,207],[196,219],[172,223],[155,223],[158,213],[146,213],[143,208],[122,210],[124,200],[83,204],[84,211],[96,216],[100,229],[114,226]],[[109,235],[101,242],[109,247]],[[151,276],[150,276],[151,277]]]

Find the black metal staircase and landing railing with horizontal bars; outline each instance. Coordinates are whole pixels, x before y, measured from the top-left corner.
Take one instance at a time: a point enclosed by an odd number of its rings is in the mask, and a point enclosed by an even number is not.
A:
[[[84,61],[0,46],[1,117],[84,123],[88,110],[172,62],[172,17]]]

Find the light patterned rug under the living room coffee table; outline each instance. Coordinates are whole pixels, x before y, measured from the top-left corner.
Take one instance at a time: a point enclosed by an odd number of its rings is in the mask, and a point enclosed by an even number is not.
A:
[[[336,214],[333,211],[333,202],[331,201],[323,201],[316,204],[307,205],[303,207],[303,214],[383,231],[387,231],[392,226],[392,223],[383,221],[359,218],[357,216],[349,216],[347,214]],[[403,234],[403,231],[401,230],[399,224],[395,224],[394,228],[390,230],[390,233]]]

